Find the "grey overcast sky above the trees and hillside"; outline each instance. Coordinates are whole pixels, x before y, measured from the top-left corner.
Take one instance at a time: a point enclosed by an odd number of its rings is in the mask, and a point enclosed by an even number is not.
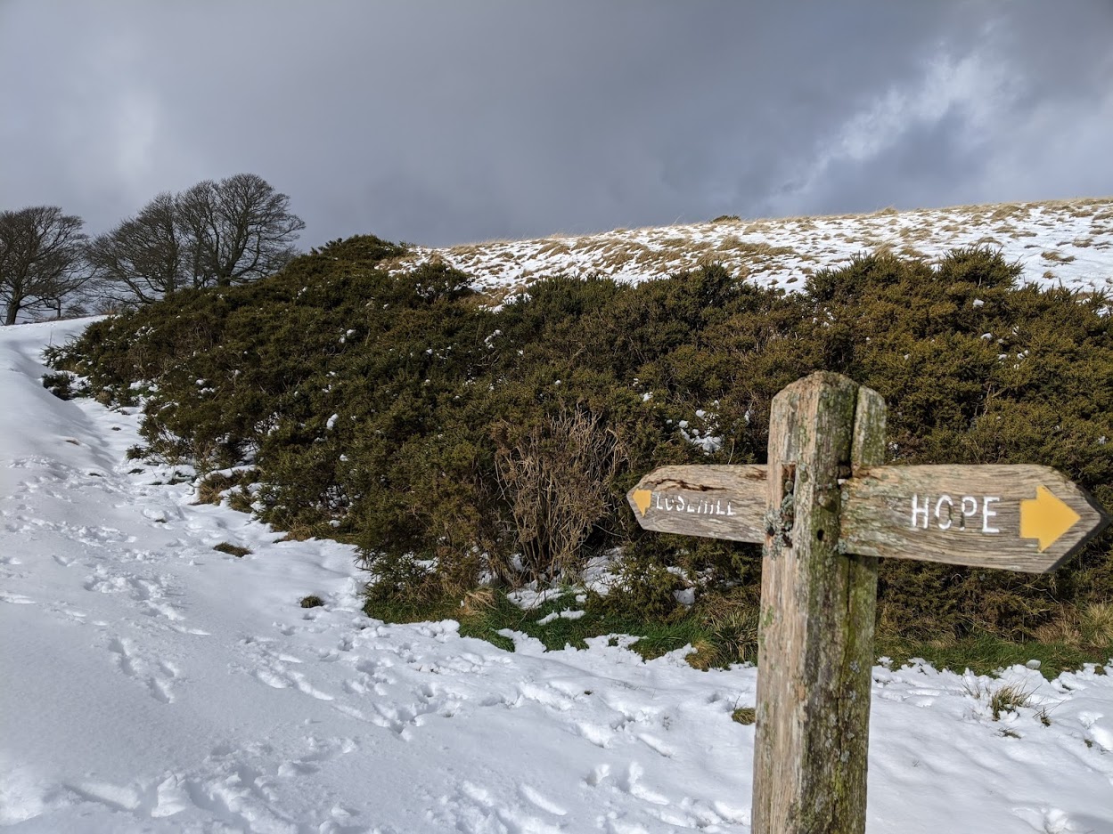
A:
[[[1113,195],[1113,0],[0,0],[0,209],[299,244]]]

